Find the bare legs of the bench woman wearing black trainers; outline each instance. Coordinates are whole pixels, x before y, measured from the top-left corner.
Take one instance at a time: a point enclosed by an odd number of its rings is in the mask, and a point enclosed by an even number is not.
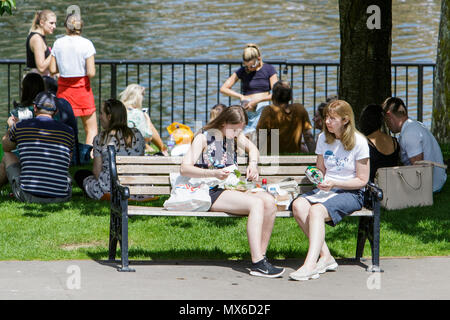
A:
[[[270,194],[224,191],[212,205],[211,211],[248,215],[247,237],[252,262],[264,258],[277,211],[275,199]]]

